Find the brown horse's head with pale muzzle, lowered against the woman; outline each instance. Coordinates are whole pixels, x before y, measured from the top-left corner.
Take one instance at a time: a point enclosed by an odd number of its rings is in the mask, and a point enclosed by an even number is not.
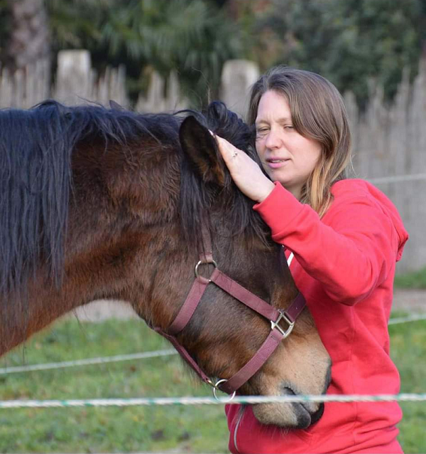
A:
[[[195,278],[194,268],[203,248],[203,223],[211,231],[213,258],[222,272],[279,309],[287,308],[297,295],[282,248],[271,240],[268,228],[252,209],[253,202],[231,181],[207,127],[258,159],[249,127],[222,104],[209,107],[204,125],[195,117],[182,122],[180,247],[187,252],[184,260],[176,257],[173,265],[173,258],[169,258],[172,263],[166,267],[166,275],[172,280],[170,285],[180,286],[179,297],[166,297],[167,305],[151,312],[151,323],[160,325],[165,332]],[[208,277],[211,271],[204,270],[204,275]],[[206,374],[229,379],[256,354],[270,332],[270,321],[216,285],[209,285],[177,338]],[[322,394],[329,384],[329,371],[329,356],[305,309],[293,332],[241,386],[239,393]],[[320,418],[323,406],[308,402],[266,403],[257,404],[253,411],[262,423],[307,427]]]

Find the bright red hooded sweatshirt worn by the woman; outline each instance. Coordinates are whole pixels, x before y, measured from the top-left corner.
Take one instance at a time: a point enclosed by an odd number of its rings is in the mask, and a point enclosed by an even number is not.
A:
[[[294,253],[291,273],[332,357],[327,394],[397,394],[388,320],[408,234],[395,206],[366,181],[338,181],[332,194],[322,219],[278,183],[254,209]],[[402,453],[396,402],[325,403],[320,421],[290,431],[263,426],[251,406],[240,407],[226,407],[232,453]]]

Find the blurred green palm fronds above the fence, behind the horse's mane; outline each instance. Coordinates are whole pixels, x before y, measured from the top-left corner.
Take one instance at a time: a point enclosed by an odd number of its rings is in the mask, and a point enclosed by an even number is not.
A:
[[[126,65],[133,100],[155,70],[177,70],[184,94],[200,107],[217,96],[222,66],[239,55],[239,33],[215,2],[50,0],[53,46],[83,47],[102,71]],[[78,21],[76,20],[78,18]]]

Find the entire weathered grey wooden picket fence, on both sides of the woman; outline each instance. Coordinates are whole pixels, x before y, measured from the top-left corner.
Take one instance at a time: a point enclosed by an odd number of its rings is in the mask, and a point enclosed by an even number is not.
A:
[[[258,78],[253,62],[231,60],[222,73],[222,100],[244,116],[250,85]],[[97,77],[87,51],[62,51],[58,70],[50,83],[50,67],[40,62],[10,75],[0,68],[0,107],[31,107],[54,97],[67,105],[84,100],[104,105],[112,99],[129,105],[125,90],[124,68],[109,68]],[[178,78],[170,75],[167,83],[153,75],[148,93],[140,95],[139,112],[171,112],[187,107],[180,95]],[[368,179],[387,194],[398,207],[410,241],[405,247],[398,272],[417,270],[426,265],[426,60],[414,83],[405,73],[393,105],[383,100],[380,87],[371,89],[368,110],[359,115],[354,95],[345,94],[345,103],[354,136],[355,176]]]

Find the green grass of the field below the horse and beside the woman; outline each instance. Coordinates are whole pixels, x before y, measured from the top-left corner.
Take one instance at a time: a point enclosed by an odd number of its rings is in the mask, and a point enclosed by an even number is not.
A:
[[[400,314],[398,314],[400,315]],[[390,327],[404,392],[425,392],[426,322]],[[59,322],[0,366],[169,348],[137,320]],[[177,356],[0,376],[0,399],[210,396]],[[425,453],[425,403],[403,403],[400,442]],[[1,453],[227,452],[222,406],[1,409]]]

